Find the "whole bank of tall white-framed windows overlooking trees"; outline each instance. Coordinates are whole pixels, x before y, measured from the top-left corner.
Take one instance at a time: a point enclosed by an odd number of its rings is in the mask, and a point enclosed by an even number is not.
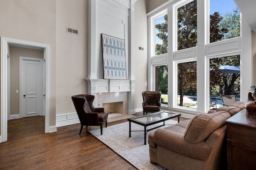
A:
[[[204,15],[206,10],[209,10],[207,14],[210,16]],[[193,111],[193,108],[200,112],[208,111],[209,96],[220,98],[222,94],[234,94],[239,100],[240,73],[221,72],[223,65],[240,69],[240,63],[243,71],[249,62],[244,58],[248,57],[244,56],[248,49],[242,48],[242,41],[246,41],[250,34],[244,31],[243,37],[240,35],[240,12],[233,0],[168,1],[165,9],[159,8],[149,14],[152,22],[148,32],[151,39],[156,36],[152,34],[155,32],[152,29],[157,25],[153,19],[164,16],[164,12],[168,12],[169,23],[167,20],[162,22],[159,33],[166,28],[162,33],[165,32],[167,37],[169,27],[169,47],[167,53],[156,53],[159,55],[153,56],[152,48],[157,43],[150,42],[151,53],[148,57],[151,59],[151,67],[148,74],[155,80],[148,80],[150,89],[159,90],[160,86],[168,84],[168,88],[162,86],[163,90],[160,90],[166,93],[167,89],[168,94],[168,103],[164,99],[162,103],[180,111]],[[246,21],[241,23],[247,28]],[[167,76],[168,82],[165,79]],[[241,77],[248,79],[243,72]],[[155,84],[151,85],[151,82]],[[244,81],[241,84],[244,86],[247,83]]]

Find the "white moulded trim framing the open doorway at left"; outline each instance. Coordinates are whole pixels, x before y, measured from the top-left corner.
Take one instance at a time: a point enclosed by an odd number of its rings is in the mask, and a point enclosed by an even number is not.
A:
[[[23,41],[1,37],[1,136],[0,143],[7,141],[7,119],[8,119],[8,55],[10,54],[10,46],[24,47],[31,49],[40,49],[44,51],[43,64],[45,68],[45,103],[43,111],[45,112],[45,133],[56,131],[54,127],[50,130],[50,45],[35,43],[31,41]],[[43,85],[44,86],[44,85]]]

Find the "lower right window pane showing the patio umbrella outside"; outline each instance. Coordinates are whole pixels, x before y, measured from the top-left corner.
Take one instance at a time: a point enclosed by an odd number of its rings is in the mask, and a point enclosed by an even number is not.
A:
[[[236,95],[240,101],[240,55],[210,59],[210,99],[217,108],[222,94]]]

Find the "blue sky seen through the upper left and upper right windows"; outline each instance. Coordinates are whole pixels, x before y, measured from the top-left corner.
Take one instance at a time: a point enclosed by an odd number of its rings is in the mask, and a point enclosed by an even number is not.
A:
[[[225,14],[226,12],[232,12],[236,8],[236,4],[233,0],[210,0],[210,14],[214,12],[219,12],[219,14]],[[155,24],[163,23],[164,17],[155,20]],[[157,33],[157,29],[155,32]],[[162,40],[155,37],[156,43],[162,44]]]

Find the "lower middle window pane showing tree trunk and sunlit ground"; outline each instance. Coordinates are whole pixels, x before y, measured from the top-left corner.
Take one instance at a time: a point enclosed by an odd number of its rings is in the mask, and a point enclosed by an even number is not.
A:
[[[178,64],[178,106],[196,108],[196,61]]]

